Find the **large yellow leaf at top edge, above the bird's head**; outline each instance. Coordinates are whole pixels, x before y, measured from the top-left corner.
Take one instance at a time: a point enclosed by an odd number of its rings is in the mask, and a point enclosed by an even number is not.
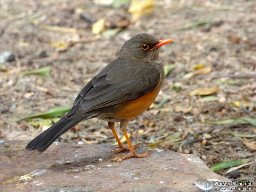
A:
[[[140,16],[153,12],[155,3],[153,0],[132,0],[128,12],[132,14],[131,20],[135,21]]]

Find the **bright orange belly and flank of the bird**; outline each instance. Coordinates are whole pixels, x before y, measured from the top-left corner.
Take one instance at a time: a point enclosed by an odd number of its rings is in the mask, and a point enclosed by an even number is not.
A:
[[[155,89],[153,89],[151,92],[146,93],[138,99],[126,101],[125,105],[122,105],[122,107],[120,106],[120,108],[116,111],[115,118],[131,119],[146,111],[156,99],[156,96],[160,91],[160,86],[161,85],[158,83]]]

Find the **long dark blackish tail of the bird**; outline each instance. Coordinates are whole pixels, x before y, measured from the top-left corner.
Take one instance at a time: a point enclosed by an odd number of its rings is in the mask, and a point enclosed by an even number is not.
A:
[[[26,146],[27,150],[37,150],[38,152],[43,152],[46,150],[57,138],[63,133],[68,131],[70,128],[78,124],[80,121],[86,119],[90,114],[85,113],[76,116],[73,119],[66,119],[62,117],[58,122],[53,124],[47,130],[38,135],[35,139],[30,141]]]

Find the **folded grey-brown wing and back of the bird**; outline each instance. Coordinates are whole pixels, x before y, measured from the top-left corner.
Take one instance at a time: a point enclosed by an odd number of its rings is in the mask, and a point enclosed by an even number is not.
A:
[[[159,81],[159,72],[153,65],[131,62],[117,59],[102,69],[77,95],[66,118],[137,99],[152,91]]]

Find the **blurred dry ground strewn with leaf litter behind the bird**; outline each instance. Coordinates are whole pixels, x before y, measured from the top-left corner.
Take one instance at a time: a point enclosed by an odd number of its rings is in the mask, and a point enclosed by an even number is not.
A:
[[[129,4],[115,8],[89,0],[0,0],[0,139],[33,139],[51,121],[33,126],[42,118],[11,120],[72,105],[126,40],[150,33],[174,39],[162,47],[159,58],[175,68],[151,108],[130,121],[132,143],[197,154],[209,167],[243,160],[248,164],[232,174],[228,169],[216,172],[255,187],[256,1],[155,3],[151,14],[130,22]],[[102,18],[106,29],[121,30],[112,36],[92,34],[92,23]],[[20,74],[48,66],[50,75]],[[191,93],[198,88],[204,88],[204,95]],[[205,96],[207,92],[213,94]],[[168,102],[154,109],[164,98]],[[239,117],[249,120],[232,119]],[[232,122],[207,123],[225,119]],[[76,125],[60,141],[115,142],[107,122],[98,119]]]

